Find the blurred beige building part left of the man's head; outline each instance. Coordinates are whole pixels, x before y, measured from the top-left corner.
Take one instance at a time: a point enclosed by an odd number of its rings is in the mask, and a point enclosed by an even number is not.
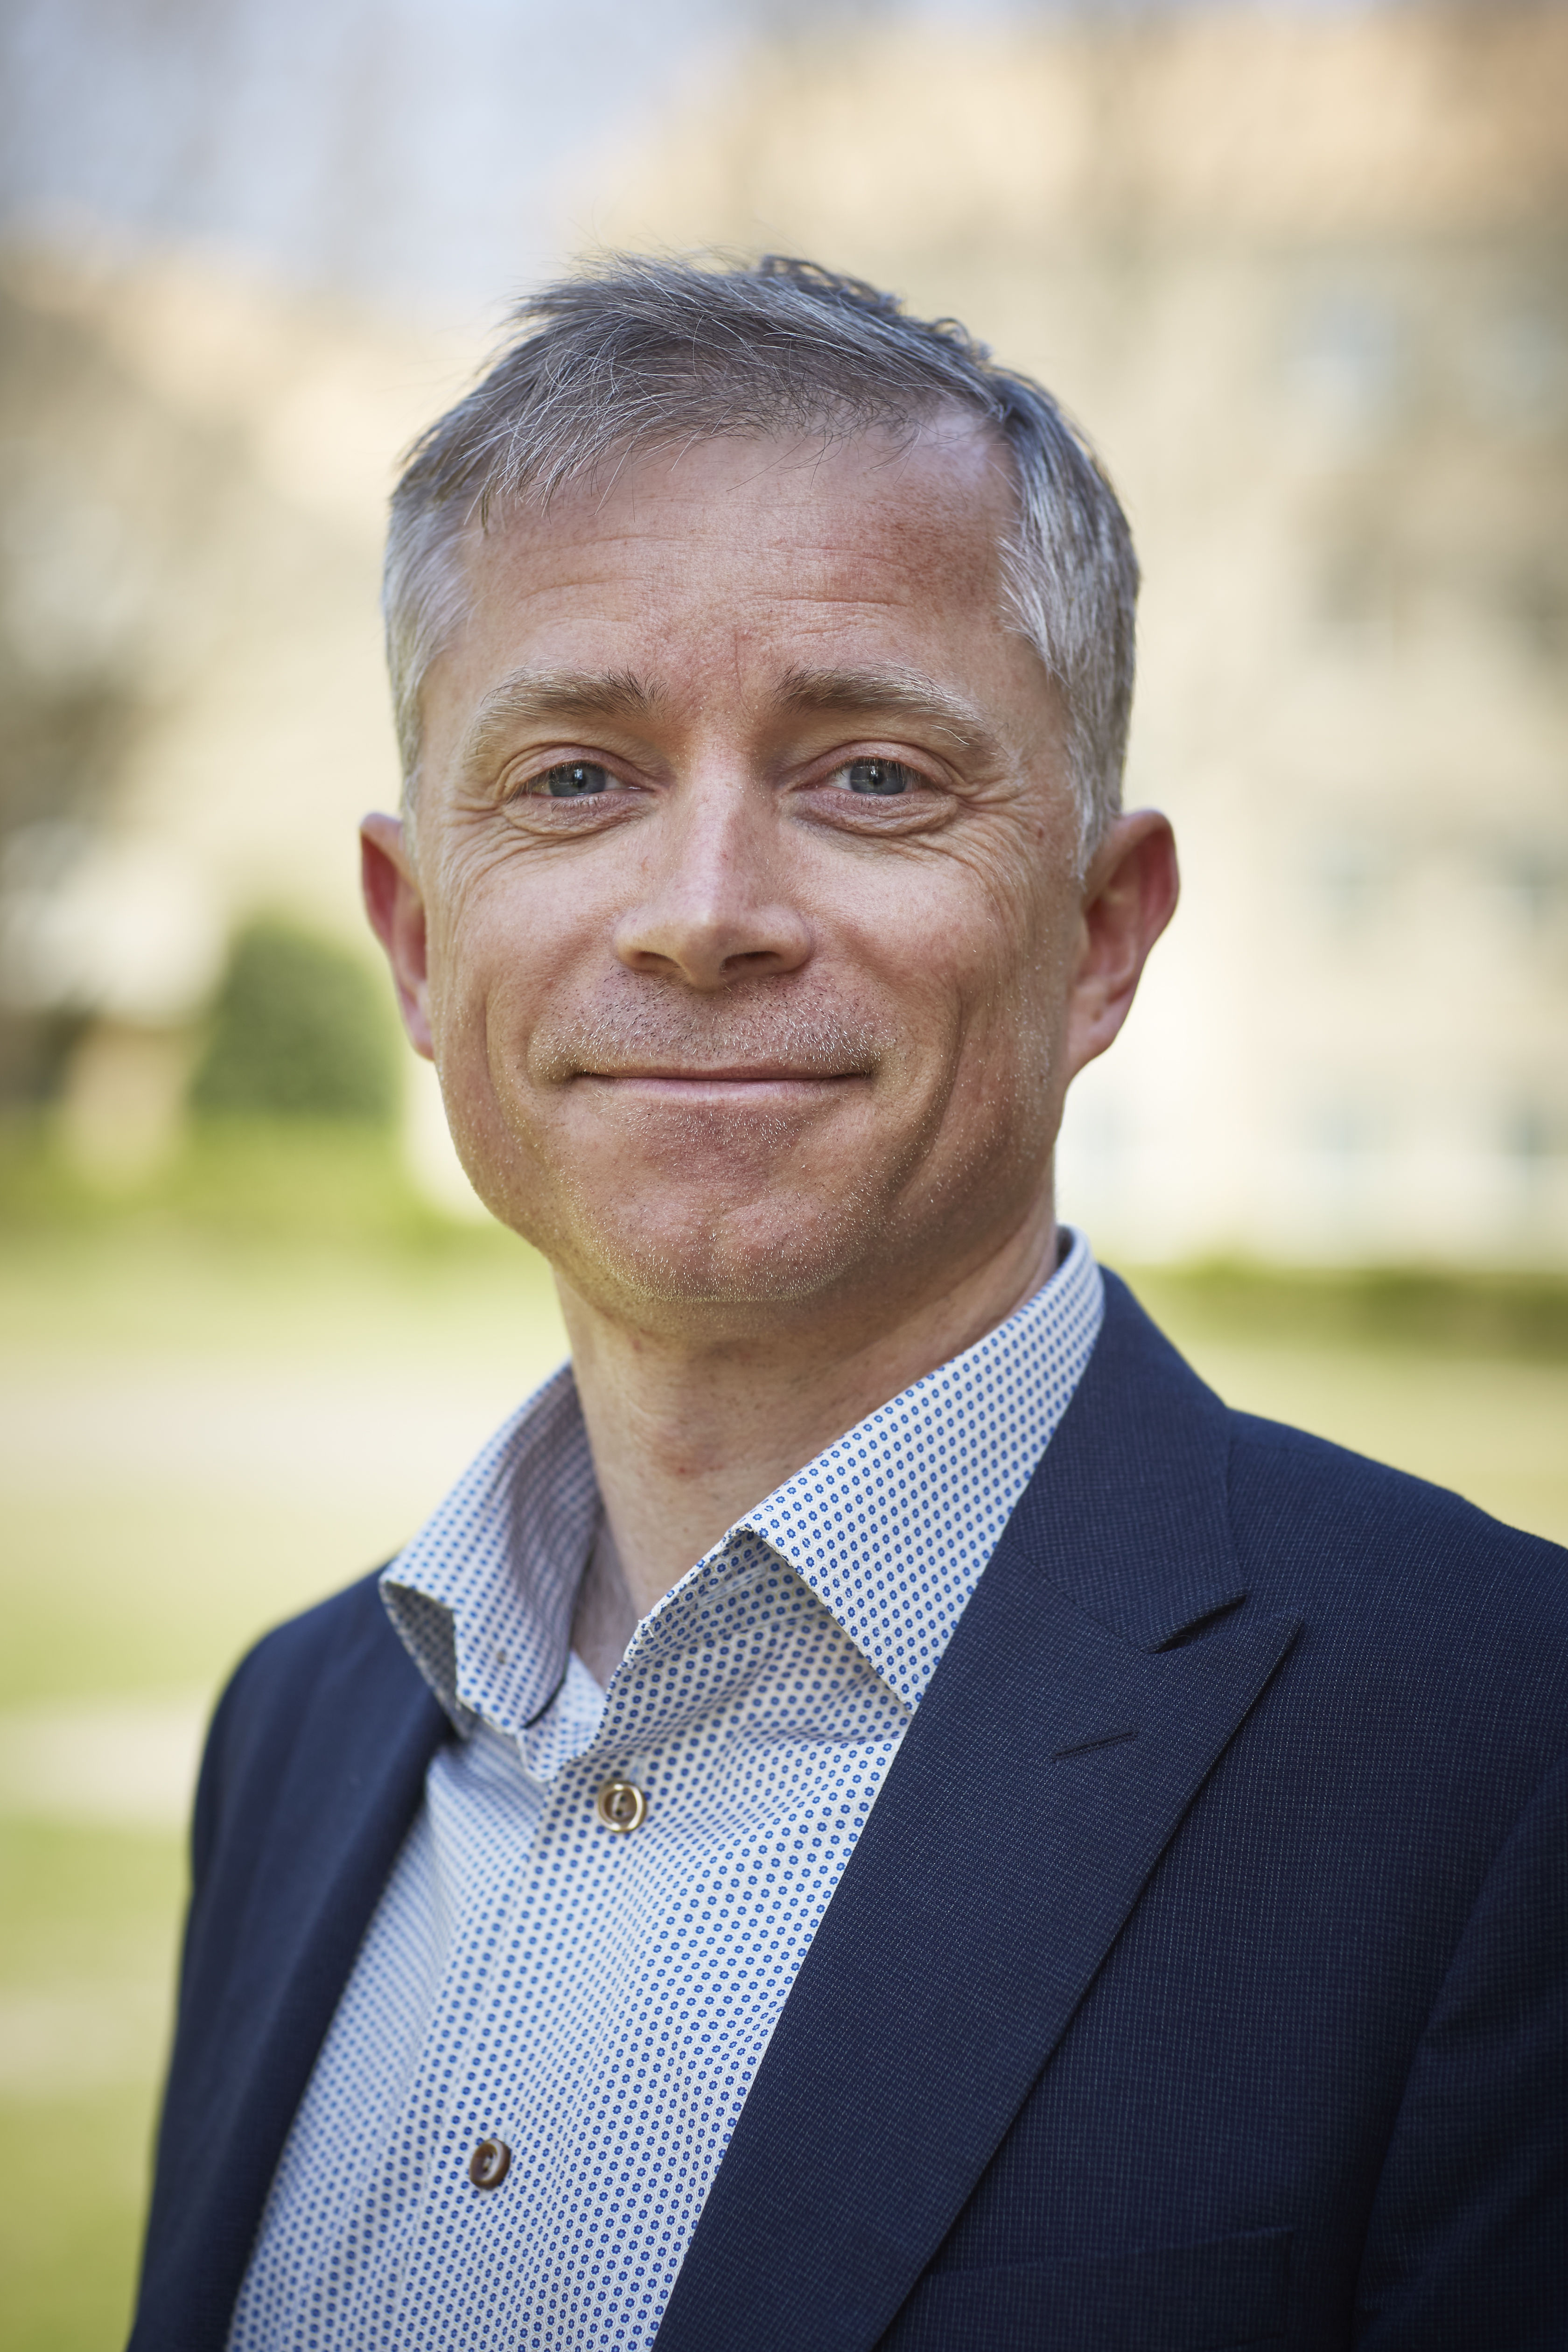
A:
[[[212,261],[0,256],[0,1101],[106,1171],[167,1148],[247,913],[362,941],[386,492],[454,367]]]

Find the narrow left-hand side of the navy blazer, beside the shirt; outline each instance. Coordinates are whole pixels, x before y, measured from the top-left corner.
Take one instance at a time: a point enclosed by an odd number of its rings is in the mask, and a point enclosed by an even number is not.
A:
[[[266,1635],[212,1722],[134,2352],[221,2352],[261,2209],[449,1722],[376,1576]]]

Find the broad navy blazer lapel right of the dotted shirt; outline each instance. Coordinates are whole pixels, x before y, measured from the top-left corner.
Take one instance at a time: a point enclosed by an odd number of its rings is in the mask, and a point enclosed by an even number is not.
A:
[[[745,2100],[658,2352],[865,2352],[1295,1639],[1246,1609],[1220,1402],[1107,1322]]]

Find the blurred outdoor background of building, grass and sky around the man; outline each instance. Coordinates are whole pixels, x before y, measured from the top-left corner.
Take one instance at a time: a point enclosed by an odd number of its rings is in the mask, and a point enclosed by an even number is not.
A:
[[[957,313],[1140,539],[1187,896],[1063,1209],[1568,1541],[1568,7],[7,0],[0,2343],[120,2340],[195,1740],[562,1352],[362,941],[397,449],[604,245]]]

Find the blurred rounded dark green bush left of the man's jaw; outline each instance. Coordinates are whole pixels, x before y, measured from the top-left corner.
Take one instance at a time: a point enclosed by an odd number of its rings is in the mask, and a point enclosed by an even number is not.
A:
[[[296,922],[247,922],[212,1007],[190,1108],[390,1127],[397,1094],[386,985],[348,948]]]

